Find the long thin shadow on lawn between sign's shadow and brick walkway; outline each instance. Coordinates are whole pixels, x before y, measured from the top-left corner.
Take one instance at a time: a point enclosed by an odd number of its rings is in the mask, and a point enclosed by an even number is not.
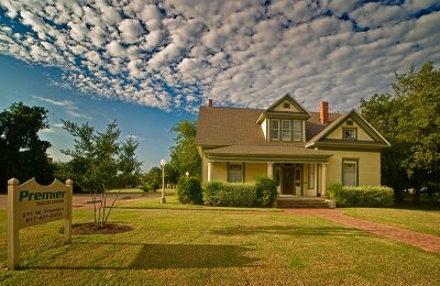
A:
[[[253,235],[256,233],[267,233],[277,235],[290,237],[376,237],[375,234],[365,232],[363,230],[352,228],[334,228],[334,227],[320,227],[320,228],[304,228],[304,227],[240,227],[229,228],[221,230],[213,230],[211,232],[216,235],[234,237],[234,235]]]

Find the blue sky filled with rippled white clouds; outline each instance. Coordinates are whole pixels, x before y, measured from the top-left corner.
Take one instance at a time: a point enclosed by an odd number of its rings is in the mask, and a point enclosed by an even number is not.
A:
[[[438,0],[0,1],[0,109],[47,108],[41,136],[61,161],[73,146],[61,119],[117,120],[148,169],[209,98],[267,108],[289,92],[310,111],[348,111],[439,59]]]

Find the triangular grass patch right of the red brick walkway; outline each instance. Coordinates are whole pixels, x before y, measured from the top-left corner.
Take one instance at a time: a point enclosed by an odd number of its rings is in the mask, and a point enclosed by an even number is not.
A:
[[[351,217],[440,237],[440,211],[436,209],[344,208]]]

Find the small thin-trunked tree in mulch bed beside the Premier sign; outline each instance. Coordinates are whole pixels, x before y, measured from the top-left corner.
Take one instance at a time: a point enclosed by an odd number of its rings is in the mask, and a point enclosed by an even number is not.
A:
[[[64,129],[75,138],[74,150],[62,150],[64,154],[72,156],[69,162],[72,177],[91,195],[95,226],[105,227],[119,197],[118,194],[108,207],[108,190],[122,188],[139,180],[142,164],[135,157],[139,144],[132,136],[121,143],[119,141],[121,130],[114,121],[108,124],[105,132],[97,132],[88,123],[82,125],[70,121],[63,123]]]

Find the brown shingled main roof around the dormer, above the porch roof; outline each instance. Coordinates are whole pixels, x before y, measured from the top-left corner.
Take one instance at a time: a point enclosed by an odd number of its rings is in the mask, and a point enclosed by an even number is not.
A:
[[[304,146],[304,142],[266,141],[263,130],[255,122],[265,109],[200,107],[196,144],[204,146],[255,145],[255,146]],[[306,140],[309,141],[326,129],[319,121],[319,112],[309,112],[306,121]],[[329,113],[329,122],[340,118]]]

